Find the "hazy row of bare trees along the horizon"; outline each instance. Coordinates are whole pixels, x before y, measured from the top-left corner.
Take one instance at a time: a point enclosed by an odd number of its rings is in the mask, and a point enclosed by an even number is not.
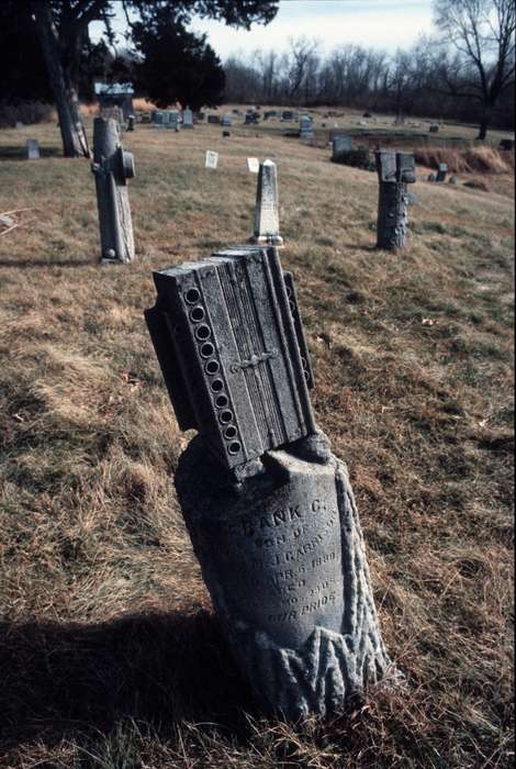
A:
[[[227,103],[327,105],[408,119],[479,120],[474,67],[428,37],[393,54],[348,43],[325,56],[316,41],[301,37],[281,53],[232,54],[224,71]],[[493,110],[492,126],[514,130],[514,112],[513,87]]]

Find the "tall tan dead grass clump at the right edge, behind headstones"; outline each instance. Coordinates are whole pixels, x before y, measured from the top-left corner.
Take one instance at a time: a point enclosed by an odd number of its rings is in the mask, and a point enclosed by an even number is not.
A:
[[[428,168],[437,168],[440,163],[448,165],[453,174],[511,174],[514,171],[514,153],[503,155],[490,146],[470,147],[458,151],[451,147],[418,147],[416,163]]]

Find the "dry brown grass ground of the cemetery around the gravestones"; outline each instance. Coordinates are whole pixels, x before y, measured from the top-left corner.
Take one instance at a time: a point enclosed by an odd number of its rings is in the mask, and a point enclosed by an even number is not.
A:
[[[375,175],[327,147],[261,126],[123,142],[137,258],[100,266],[89,163],[59,157],[54,125],[0,132],[21,147],[0,149],[0,213],[29,209],[0,236],[0,766],[509,766],[512,175],[486,192],[419,168],[393,254],[374,249]],[[248,237],[248,156],[278,164],[314,408],[406,679],[296,725],[253,710],[212,616],[171,481],[191,434],[143,319],[153,269]]]

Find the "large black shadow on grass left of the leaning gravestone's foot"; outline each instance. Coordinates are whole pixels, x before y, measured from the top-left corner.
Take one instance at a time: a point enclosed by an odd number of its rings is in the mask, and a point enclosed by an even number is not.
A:
[[[245,738],[251,694],[215,618],[127,615],[97,625],[0,623],[0,748],[82,743],[116,723],[172,737],[181,720]]]

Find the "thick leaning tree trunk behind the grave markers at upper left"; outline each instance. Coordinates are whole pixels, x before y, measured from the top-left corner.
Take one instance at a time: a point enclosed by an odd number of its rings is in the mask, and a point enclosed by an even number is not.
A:
[[[65,157],[90,157],[88,140],[80,119],[77,90],[71,87],[60,60],[59,41],[47,2],[33,2],[37,36],[45,58],[54,99]]]

